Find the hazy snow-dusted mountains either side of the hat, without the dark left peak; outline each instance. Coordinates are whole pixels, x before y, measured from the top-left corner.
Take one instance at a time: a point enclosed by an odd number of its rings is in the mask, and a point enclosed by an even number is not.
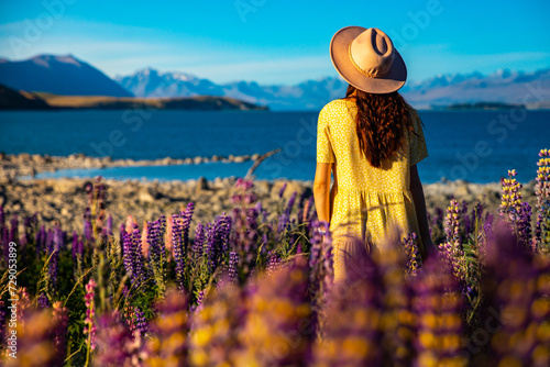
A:
[[[140,97],[227,96],[268,105],[272,110],[319,110],[332,99],[343,97],[348,87],[339,77],[307,80],[293,86],[258,85],[255,81],[217,85],[193,75],[160,73],[152,68],[116,80]],[[479,71],[438,75],[417,82],[408,81],[399,92],[420,109],[477,102],[548,108],[550,69],[535,73],[504,69],[491,75]]]

